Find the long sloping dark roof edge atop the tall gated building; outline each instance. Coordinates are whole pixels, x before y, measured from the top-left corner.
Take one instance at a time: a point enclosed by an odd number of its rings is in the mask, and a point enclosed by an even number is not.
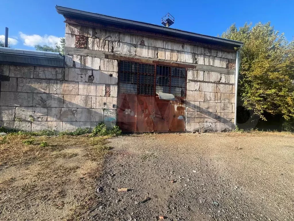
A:
[[[86,19],[91,19],[94,21],[100,20],[100,21],[103,21],[106,23],[111,22],[113,24],[131,25],[132,27],[137,27],[137,28],[145,27],[145,28],[153,29],[154,31],[162,31],[167,34],[177,34],[183,38],[195,37],[198,39],[206,39],[209,41],[214,41],[215,43],[219,42],[219,43],[230,44],[235,47],[240,47],[243,45],[242,42],[238,42],[238,41],[234,41],[234,40],[229,40],[229,39],[224,39],[224,38],[219,38],[219,37],[212,37],[212,36],[197,34],[197,33],[193,33],[193,32],[187,32],[187,31],[183,31],[180,29],[163,27],[163,26],[156,25],[156,24],[149,24],[149,23],[145,23],[145,22],[138,22],[138,21],[133,21],[133,20],[128,20],[128,19],[121,19],[121,18],[117,18],[117,17],[111,17],[108,15],[97,14],[97,13],[92,13],[92,12],[87,12],[87,11],[81,11],[81,10],[66,8],[66,7],[57,6],[57,5],[55,8],[56,8],[56,11],[59,14],[63,15],[64,17],[69,16],[69,17],[81,18],[81,19],[86,18]]]

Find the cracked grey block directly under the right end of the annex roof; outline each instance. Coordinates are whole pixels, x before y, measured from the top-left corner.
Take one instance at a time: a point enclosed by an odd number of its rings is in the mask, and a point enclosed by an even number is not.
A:
[[[63,67],[35,67],[34,78],[64,80]]]

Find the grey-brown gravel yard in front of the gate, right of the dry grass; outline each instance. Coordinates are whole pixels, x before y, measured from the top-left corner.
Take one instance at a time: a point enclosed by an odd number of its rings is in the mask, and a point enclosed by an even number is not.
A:
[[[169,133],[109,141],[113,154],[96,184],[101,204],[81,218],[294,220],[293,135]]]

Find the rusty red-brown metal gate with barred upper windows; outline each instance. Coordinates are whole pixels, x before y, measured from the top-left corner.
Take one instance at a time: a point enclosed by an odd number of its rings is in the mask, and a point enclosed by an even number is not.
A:
[[[117,124],[123,132],[185,131],[186,68],[120,61]],[[174,101],[156,93],[171,93]]]

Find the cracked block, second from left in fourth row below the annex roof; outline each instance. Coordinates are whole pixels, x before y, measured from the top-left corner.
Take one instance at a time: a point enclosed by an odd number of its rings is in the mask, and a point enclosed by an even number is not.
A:
[[[41,107],[17,107],[15,119],[20,121],[47,121],[47,109]]]

